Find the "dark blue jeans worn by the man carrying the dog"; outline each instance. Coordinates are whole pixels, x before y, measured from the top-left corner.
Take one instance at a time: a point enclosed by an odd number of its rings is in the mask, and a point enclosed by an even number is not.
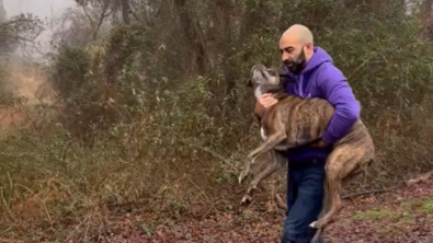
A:
[[[326,159],[321,158],[289,162],[288,217],[284,220],[282,243],[310,243],[315,235],[317,230],[309,224],[318,219],[321,211],[324,163]]]

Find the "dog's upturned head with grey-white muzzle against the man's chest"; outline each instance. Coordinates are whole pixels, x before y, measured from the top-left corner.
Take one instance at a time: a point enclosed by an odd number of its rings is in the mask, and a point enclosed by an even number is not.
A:
[[[260,99],[264,93],[284,92],[287,77],[284,72],[266,68],[263,65],[254,65],[251,69],[251,77],[248,86],[254,90],[254,95]]]

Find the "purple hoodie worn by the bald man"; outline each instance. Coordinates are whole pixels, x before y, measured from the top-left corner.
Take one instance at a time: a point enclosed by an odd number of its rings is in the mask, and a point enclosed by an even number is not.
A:
[[[322,140],[333,143],[349,132],[360,118],[361,105],[356,101],[344,74],[332,63],[332,58],[320,47],[299,76],[289,73],[297,82],[289,82],[286,91],[300,97],[320,97],[335,107],[335,113],[326,130]],[[329,149],[299,148],[288,151],[290,161],[327,157]]]

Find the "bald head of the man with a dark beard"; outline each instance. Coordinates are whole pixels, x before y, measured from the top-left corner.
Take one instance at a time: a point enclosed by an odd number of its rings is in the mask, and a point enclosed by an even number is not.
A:
[[[298,74],[314,54],[312,34],[308,27],[295,24],[283,33],[280,38],[282,60],[287,69]]]

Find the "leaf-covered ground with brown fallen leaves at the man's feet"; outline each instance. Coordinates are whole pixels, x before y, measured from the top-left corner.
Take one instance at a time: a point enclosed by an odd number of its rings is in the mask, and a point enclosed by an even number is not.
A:
[[[206,218],[183,213],[181,220],[126,215],[118,218],[116,225],[128,230],[113,231],[100,240],[118,243],[280,242],[283,213],[261,208],[233,208]],[[433,180],[344,200],[344,208],[324,232],[324,239],[328,243],[433,242]]]

